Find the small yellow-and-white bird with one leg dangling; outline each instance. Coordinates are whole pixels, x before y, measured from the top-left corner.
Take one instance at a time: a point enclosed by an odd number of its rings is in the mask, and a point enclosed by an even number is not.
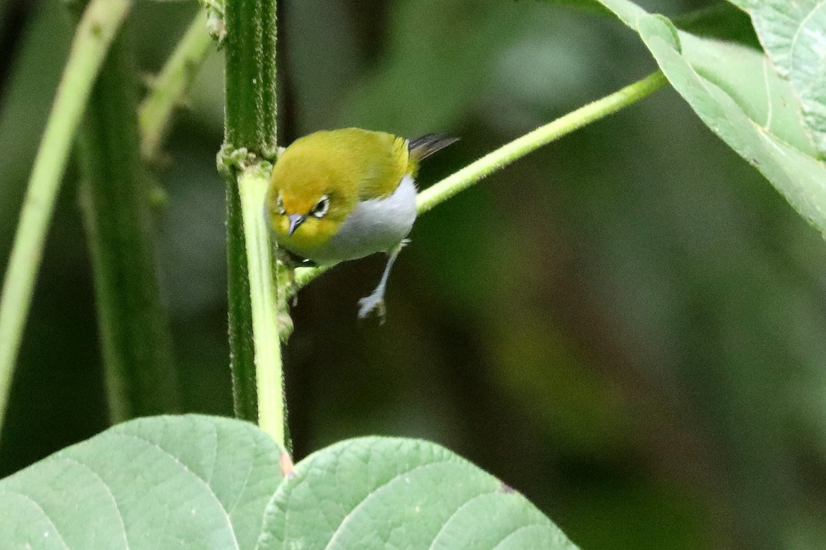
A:
[[[455,141],[358,128],[297,139],[278,157],[267,192],[278,246],[318,266],[386,252],[382,279],[358,301],[358,317],[375,310],[383,319],[387,276],[415,221],[419,162]]]

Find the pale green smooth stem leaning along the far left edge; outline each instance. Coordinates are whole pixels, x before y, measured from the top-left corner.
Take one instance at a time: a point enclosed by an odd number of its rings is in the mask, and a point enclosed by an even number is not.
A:
[[[89,2],[40,141],[0,298],[0,421],[69,148],[97,72],[131,7],[131,0]]]

